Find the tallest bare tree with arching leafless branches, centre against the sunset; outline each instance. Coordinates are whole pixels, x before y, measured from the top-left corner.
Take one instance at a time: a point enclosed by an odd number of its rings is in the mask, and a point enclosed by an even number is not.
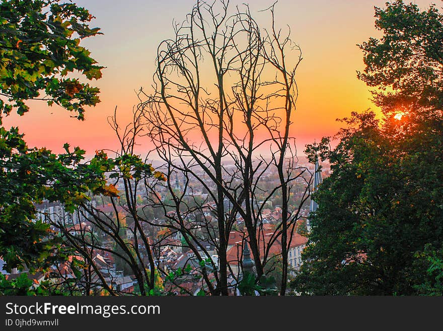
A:
[[[186,21],[175,24],[174,38],[158,47],[155,92],[139,93],[145,98],[138,109],[147,135],[169,178],[172,204],[160,205],[175,207],[168,225],[182,231],[194,251],[196,238],[186,221],[192,220],[190,214],[212,208],[214,221],[207,222],[205,239],[212,240],[218,252],[213,291],[208,282],[214,295],[228,294],[227,248],[238,217],[244,220],[258,277],[264,274],[270,247],[281,242],[284,295],[290,235],[309,196],[310,176],[299,208],[289,210],[292,183],[307,172],[298,166],[289,136],[302,56],[289,33],[283,35],[275,27],[274,6],[269,12],[272,26],[262,35],[248,6],[231,13],[228,1],[198,1]],[[298,52],[295,63],[287,63],[287,51]],[[261,185],[271,170],[277,171],[279,185],[265,191]],[[174,176],[185,178],[180,192],[171,183]],[[208,192],[206,200],[192,208],[185,201],[193,195],[190,181]],[[282,195],[282,220],[271,237],[264,238],[261,211],[277,191]],[[262,204],[257,201],[259,193],[266,195]]]

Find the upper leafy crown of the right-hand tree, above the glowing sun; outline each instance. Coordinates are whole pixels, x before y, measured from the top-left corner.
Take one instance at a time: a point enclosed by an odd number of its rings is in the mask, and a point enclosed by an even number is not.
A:
[[[404,104],[441,109],[443,106],[443,15],[435,5],[421,11],[402,0],[375,8],[380,39],[359,45],[366,68],[358,77],[377,87],[374,101],[384,111],[396,112]],[[391,91],[390,91],[391,90]]]

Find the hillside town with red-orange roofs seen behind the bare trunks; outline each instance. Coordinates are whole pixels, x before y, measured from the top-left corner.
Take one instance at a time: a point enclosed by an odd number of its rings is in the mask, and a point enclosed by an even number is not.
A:
[[[327,173],[329,170],[323,170]],[[311,169],[314,174],[312,180],[312,190],[321,183],[322,175],[318,169],[318,163]],[[265,181],[270,181],[273,174],[269,173]],[[177,191],[184,189],[185,183],[180,183],[180,178],[175,176],[173,185]],[[272,185],[272,182],[270,182]],[[197,185],[196,185],[197,186]],[[300,184],[302,187],[302,183]],[[190,186],[187,186],[190,187]],[[301,189],[299,189],[301,191]],[[143,197],[144,193],[144,197]],[[202,190],[193,190],[193,196],[198,197],[201,202],[201,213],[196,217],[195,214],[187,215],[187,224],[190,232],[193,234],[193,242],[185,240],[182,232],[168,227],[168,220],[177,218],[177,211],[166,211],[162,216],[160,212],[154,211],[153,206],[146,204],[147,191],[138,195],[136,210],[140,215],[146,216],[146,221],[141,223],[142,232],[145,240],[134,237],[131,229],[134,227],[134,219],[128,212],[124,204],[116,205],[112,202],[104,203],[103,199],[94,198],[88,203],[90,211],[76,210],[69,213],[64,206],[57,202],[44,201],[42,204],[35,205],[37,217],[34,222],[45,222],[51,225],[52,235],[62,238],[66,243],[78,245],[82,243],[88,252],[88,259],[84,254],[72,254],[67,260],[54,264],[50,273],[29,274],[37,286],[42,281],[50,281],[53,284],[69,283],[77,284],[77,290],[87,287],[91,294],[103,294],[103,282],[110,289],[120,294],[137,294],[139,287],[137,277],[133,270],[125,262],[122,255],[118,252],[118,246],[115,243],[115,237],[109,235],[106,229],[97,227],[97,222],[93,222],[94,217],[100,216],[109,222],[117,222],[120,227],[118,240],[126,243],[127,247],[140,258],[140,262],[151,272],[149,259],[152,258],[155,263],[156,282],[162,293],[170,295],[201,295],[207,293],[208,289],[202,279],[202,269],[205,270],[205,277],[215,278],[218,270],[218,243],[219,239],[211,233],[213,227],[216,227],[216,205],[207,200],[207,193]],[[167,197],[165,191],[163,198]],[[303,193],[295,190],[292,198],[293,206],[297,206]],[[205,202],[206,201],[206,202]],[[257,204],[257,228],[256,236],[260,238],[259,254],[260,259],[266,261],[267,275],[274,278],[279,277],[279,263],[281,260],[281,231],[278,228],[282,223],[282,209],[278,205],[278,196]],[[143,204],[145,203],[145,204]],[[224,204],[228,210],[231,210],[229,203]],[[286,252],[289,279],[296,276],[296,272],[302,264],[302,252],[305,248],[307,238],[307,226],[309,226],[309,214],[315,211],[316,205],[312,199],[307,199],[300,206],[300,211],[295,219],[294,226],[286,230],[288,238],[288,249]],[[288,218],[296,211],[288,211]],[[111,225],[110,225],[111,227]],[[304,231],[303,231],[304,229]],[[238,283],[243,276],[243,262],[246,257],[250,258],[248,246],[248,230],[244,219],[237,216],[233,229],[229,232],[227,241],[226,256],[229,263],[229,291],[231,295],[240,295]],[[76,239],[82,239],[76,242]],[[89,238],[85,240],[85,238]],[[89,244],[88,244],[89,243]],[[146,245],[149,245],[152,256],[147,254]],[[77,246],[76,246],[77,247]],[[79,247],[79,250],[81,248]],[[4,263],[0,260],[0,263]],[[0,269],[2,269],[0,267]],[[253,268],[251,269],[253,270]],[[27,270],[12,270],[7,273],[2,270],[7,279],[17,278],[21,273],[27,273]],[[83,289],[84,290],[84,289]]]

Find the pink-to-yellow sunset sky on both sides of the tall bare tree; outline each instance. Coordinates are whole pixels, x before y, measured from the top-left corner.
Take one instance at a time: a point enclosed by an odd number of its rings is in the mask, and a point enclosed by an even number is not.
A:
[[[242,4],[245,1],[233,1]],[[174,35],[172,21],[182,21],[194,0],[78,0],[97,18],[92,26],[104,35],[83,42],[91,55],[107,67],[103,78],[93,81],[101,89],[102,102],[86,112],[86,120],[70,118],[60,107],[30,103],[31,111],[4,119],[5,126],[19,126],[29,146],[46,146],[62,152],[65,142],[93,153],[96,149],[112,149],[116,139],[106,118],[118,107],[123,120],[137,103],[134,90],[149,91],[155,70],[158,44]],[[273,1],[250,2],[255,19],[267,22],[269,13],[258,12]],[[303,51],[298,71],[299,99],[292,135],[299,151],[307,143],[336,133],[335,120],[353,110],[374,108],[364,83],[356,78],[363,69],[362,53],[356,44],[378,37],[374,27],[374,6],[385,1],[370,0],[279,0],[276,23],[291,27],[291,38]],[[431,1],[415,1],[422,9]],[[138,151],[142,153],[142,149]]]

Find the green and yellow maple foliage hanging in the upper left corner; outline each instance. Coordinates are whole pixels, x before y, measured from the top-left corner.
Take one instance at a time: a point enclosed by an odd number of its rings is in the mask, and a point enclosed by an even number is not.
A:
[[[10,0],[0,5],[0,111],[23,115],[29,99],[58,104],[84,119],[85,106],[100,102],[99,89],[67,75],[78,71],[87,79],[101,78],[103,67],[84,38],[99,33],[90,28],[94,17],[76,4],[54,0]],[[41,96],[41,94],[44,94]]]

